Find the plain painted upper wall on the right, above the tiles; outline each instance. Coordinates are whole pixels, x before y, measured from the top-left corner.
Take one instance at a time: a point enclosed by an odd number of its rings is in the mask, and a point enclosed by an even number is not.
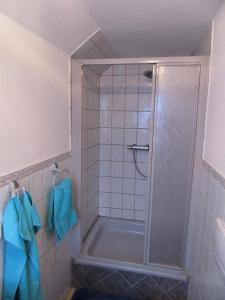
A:
[[[225,177],[225,4],[213,24],[204,159]]]

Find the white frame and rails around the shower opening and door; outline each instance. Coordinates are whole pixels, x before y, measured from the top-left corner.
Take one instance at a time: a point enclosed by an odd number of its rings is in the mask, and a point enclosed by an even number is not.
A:
[[[155,98],[156,98],[156,72],[157,72],[157,65],[159,64],[174,64],[174,65],[199,65],[200,69],[201,66],[205,66],[208,64],[208,57],[206,56],[181,56],[181,57],[156,57],[156,58],[112,58],[112,59],[73,59],[70,58],[70,70],[72,69],[72,61],[76,61],[76,63],[80,66],[80,74],[82,74],[82,67],[85,65],[119,65],[119,64],[152,64],[153,65],[153,89],[152,89],[152,107],[151,110],[151,143],[153,146],[153,137],[154,137],[154,116],[155,116]],[[82,89],[82,87],[81,87]],[[71,93],[72,94],[72,93]],[[82,93],[81,93],[82,94]],[[72,96],[71,96],[71,103],[70,108],[72,112]],[[198,113],[197,113],[198,114]],[[197,118],[198,119],[198,115]],[[196,120],[197,121],[197,120]],[[71,116],[71,128],[72,128],[72,116]],[[71,130],[72,131],[72,130]],[[196,135],[196,130],[195,130]],[[195,145],[194,145],[195,148]],[[153,162],[153,151],[149,151],[149,158],[150,162]],[[195,151],[193,151],[193,156],[195,156]],[[194,160],[194,158],[193,158]],[[151,165],[149,168],[149,174],[151,175],[153,170],[153,166]],[[193,172],[192,172],[193,173]],[[141,264],[135,264],[135,263],[128,263],[128,262],[120,262],[110,259],[104,259],[104,258],[96,258],[96,257],[85,257],[82,255],[82,248],[83,248],[83,235],[82,235],[82,229],[80,234],[80,257],[77,258],[78,262],[81,263],[89,263],[93,265],[103,265],[103,266],[109,266],[109,267],[117,267],[124,270],[138,270],[147,272],[149,274],[157,274],[160,276],[171,277],[176,279],[185,279],[187,274],[185,272],[186,267],[186,260],[184,268],[179,268],[175,266],[168,266],[168,265],[162,265],[162,264],[154,264],[148,262],[148,256],[149,256],[149,250],[150,250],[150,218],[151,218],[151,207],[152,207],[152,181],[151,176],[148,176],[148,207],[147,207],[147,217],[145,220],[145,237],[144,237],[144,259],[143,259],[143,265]],[[191,188],[190,188],[191,190]],[[190,191],[191,194],[191,191]],[[190,196],[189,196],[189,208],[190,208]],[[82,206],[82,195],[81,195],[81,206]],[[188,220],[188,218],[187,218]],[[188,238],[188,222],[186,224],[186,246],[187,246],[187,238]],[[185,251],[186,252],[186,251]]]

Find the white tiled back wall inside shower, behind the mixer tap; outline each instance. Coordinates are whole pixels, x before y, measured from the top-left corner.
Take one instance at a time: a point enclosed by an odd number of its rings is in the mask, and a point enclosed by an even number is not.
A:
[[[100,79],[99,214],[145,220],[148,181],[135,170],[129,144],[150,144],[152,65],[114,65]],[[97,107],[97,106],[96,106]],[[148,174],[149,152],[138,166]]]

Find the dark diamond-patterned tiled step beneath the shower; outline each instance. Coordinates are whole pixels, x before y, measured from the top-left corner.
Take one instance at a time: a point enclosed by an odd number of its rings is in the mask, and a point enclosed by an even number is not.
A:
[[[184,281],[75,262],[72,265],[72,283],[75,288],[88,290],[88,293],[114,295],[117,299],[120,299],[119,297],[133,300],[187,299],[188,285]]]

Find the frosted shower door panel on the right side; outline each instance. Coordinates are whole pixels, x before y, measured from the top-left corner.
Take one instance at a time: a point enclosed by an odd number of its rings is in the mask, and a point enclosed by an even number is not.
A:
[[[184,267],[200,67],[156,71],[148,262]]]

